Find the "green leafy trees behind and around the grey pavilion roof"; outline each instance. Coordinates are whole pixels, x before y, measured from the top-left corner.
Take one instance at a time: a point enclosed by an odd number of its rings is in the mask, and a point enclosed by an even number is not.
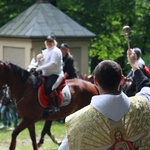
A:
[[[0,0],[0,26],[20,14],[37,0]],[[150,49],[150,0],[48,0],[82,26],[96,34],[89,56],[96,63],[104,59],[126,64],[127,41],[122,28],[131,27],[131,48],[143,51],[146,64]],[[119,59],[118,59],[119,58]],[[122,60],[123,61],[122,61]],[[120,61],[121,60],[121,61]],[[95,67],[93,64],[93,68]],[[126,66],[126,65],[125,65]]]

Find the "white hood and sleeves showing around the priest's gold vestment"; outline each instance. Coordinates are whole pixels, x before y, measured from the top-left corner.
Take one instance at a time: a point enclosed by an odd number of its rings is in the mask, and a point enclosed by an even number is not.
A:
[[[142,88],[141,91],[136,95],[145,97],[150,106],[149,87]],[[123,92],[121,92],[119,95],[105,94],[93,96],[91,105],[104,116],[109,117],[114,121],[119,121],[124,116],[124,114],[127,113],[130,107],[130,100]],[[58,150],[69,150],[67,135]]]

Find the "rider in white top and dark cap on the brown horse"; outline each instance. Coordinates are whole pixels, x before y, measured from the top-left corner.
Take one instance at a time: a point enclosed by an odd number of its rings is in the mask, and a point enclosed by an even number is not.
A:
[[[58,108],[58,99],[56,88],[64,78],[63,62],[61,50],[57,47],[55,36],[49,35],[45,41],[46,49],[37,55],[38,67],[37,72],[42,72],[45,78],[44,90],[49,96],[49,106],[53,105],[49,112],[57,113],[60,111]]]

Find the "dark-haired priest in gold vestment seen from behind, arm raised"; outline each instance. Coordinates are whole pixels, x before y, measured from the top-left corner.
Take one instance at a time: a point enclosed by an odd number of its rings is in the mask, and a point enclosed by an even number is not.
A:
[[[129,98],[120,91],[124,76],[118,63],[100,62],[94,70],[94,83],[100,95],[93,96],[90,105],[66,118],[67,133],[58,150],[108,150],[112,144],[115,150],[119,147],[115,147],[114,140],[117,131],[126,141],[142,137],[136,149],[150,149],[150,81],[139,68],[133,50],[127,51],[127,58],[135,75],[136,96]]]

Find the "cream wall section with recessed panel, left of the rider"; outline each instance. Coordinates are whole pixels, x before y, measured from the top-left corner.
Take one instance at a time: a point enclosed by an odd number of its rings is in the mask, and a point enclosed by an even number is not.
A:
[[[0,38],[0,60],[10,61],[26,69],[30,63],[31,40]]]

